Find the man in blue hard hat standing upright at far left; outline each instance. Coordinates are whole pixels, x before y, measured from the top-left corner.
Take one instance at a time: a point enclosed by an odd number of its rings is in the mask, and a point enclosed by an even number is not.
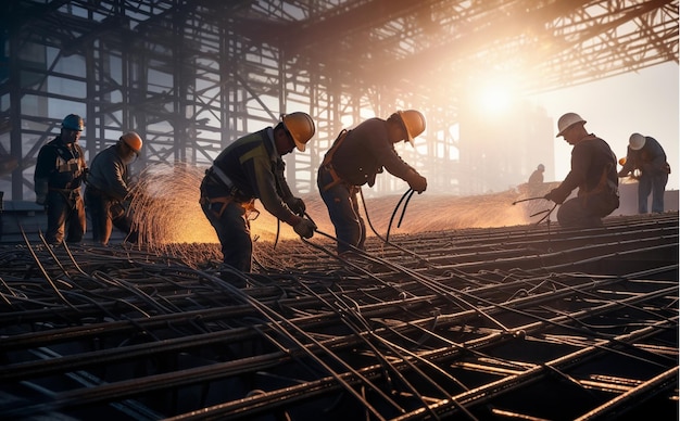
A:
[[[76,114],[62,120],[61,133],[40,148],[34,174],[36,203],[47,208],[49,244],[79,243],[85,235],[85,205],[80,184],[87,173],[78,144],[85,124]],[[67,228],[67,231],[66,231]]]

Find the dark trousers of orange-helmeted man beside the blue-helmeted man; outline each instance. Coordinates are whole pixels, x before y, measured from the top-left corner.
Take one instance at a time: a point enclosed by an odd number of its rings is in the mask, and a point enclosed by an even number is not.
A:
[[[85,206],[92,222],[92,240],[96,243],[109,244],[113,227],[127,235],[126,241],[137,242],[139,235],[133,230],[133,217],[121,202],[88,187],[85,190]]]

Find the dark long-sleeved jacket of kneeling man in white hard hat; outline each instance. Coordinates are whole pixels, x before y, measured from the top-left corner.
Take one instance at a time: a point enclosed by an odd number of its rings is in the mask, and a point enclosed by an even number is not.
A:
[[[571,170],[551,194],[556,203],[562,203],[576,188],[579,196],[618,188],[616,155],[607,142],[593,135],[574,145]]]

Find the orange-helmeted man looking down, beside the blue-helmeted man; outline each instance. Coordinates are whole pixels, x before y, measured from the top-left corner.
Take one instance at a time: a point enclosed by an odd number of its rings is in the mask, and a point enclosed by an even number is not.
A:
[[[85,206],[96,243],[109,244],[113,227],[126,234],[126,241],[136,243],[138,240],[125,199],[130,193],[129,164],[139,155],[141,145],[139,135],[128,131],[115,144],[98,153],[90,164]]]

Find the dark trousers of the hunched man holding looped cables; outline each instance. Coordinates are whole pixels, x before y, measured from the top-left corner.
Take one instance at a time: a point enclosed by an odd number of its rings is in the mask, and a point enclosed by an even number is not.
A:
[[[352,247],[364,250],[366,224],[358,213],[358,188],[340,182],[324,190],[332,177],[323,166],[318,169],[316,180],[330,221],[336,228],[338,254],[351,251]]]

